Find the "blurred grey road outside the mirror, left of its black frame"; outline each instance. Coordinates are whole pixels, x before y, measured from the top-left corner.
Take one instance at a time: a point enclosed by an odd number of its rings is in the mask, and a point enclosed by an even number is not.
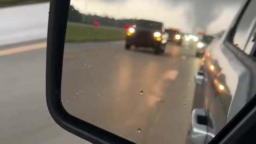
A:
[[[52,120],[45,100],[46,39],[0,46],[0,143],[89,143]]]

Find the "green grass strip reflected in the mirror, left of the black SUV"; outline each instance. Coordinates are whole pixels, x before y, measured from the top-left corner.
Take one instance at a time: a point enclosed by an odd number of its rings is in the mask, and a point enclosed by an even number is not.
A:
[[[107,27],[68,24],[66,42],[103,42],[125,39],[125,30]]]

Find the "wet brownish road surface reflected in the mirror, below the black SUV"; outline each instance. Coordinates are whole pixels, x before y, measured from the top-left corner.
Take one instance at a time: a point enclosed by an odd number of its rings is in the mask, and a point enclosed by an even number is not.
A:
[[[125,50],[123,41],[67,43],[62,103],[70,114],[136,143],[185,143],[199,62],[186,43],[168,44],[161,55]]]

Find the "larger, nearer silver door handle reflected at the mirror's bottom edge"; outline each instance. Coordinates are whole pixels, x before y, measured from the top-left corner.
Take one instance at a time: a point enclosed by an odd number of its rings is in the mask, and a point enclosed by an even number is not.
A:
[[[207,132],[207,117],[204,109],[194,109],[191,119],[191,143],[204,143],[206,136],[213,138],[215,135]]]

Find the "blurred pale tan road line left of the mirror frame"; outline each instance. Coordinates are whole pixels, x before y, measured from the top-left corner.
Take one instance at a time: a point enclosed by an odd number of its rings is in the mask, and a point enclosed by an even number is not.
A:
[[[5,50],[0,50],[0,56],[22,53],[26,51],[38,50],[46,48],[46,42],[37,43],[37,44],[30,44],[24,46],[13,47]]]

